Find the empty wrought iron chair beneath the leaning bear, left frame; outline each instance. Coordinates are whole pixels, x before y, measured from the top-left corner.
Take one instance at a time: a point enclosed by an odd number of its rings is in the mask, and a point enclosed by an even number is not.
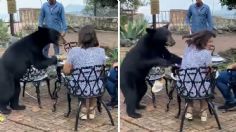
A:
[[[25,87],[27,83],[32,82],[33,85],[36,87],[36,94],[37,94],[39,108],[42,108],[41,100],[40,100],[40,89],[39,89],[40,83],[42,81],[46,81],[47,87],[48,87],[48,93],[50,97],[52,98],[52,94],[50,91],[50,79],[47,75],[46,69],[38,70],[35,67],[31,66],[29,69],[27,69],[27,72],[20,79],[20,82],[23,83],[23,92],[22,92],[23,97],[25,96]]]

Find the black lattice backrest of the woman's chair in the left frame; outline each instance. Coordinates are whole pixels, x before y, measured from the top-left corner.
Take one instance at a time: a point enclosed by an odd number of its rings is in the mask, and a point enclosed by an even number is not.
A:
[[[65,77],[65,85],[70,94],[80,98],[99,97],[105,92],[105,79],[105,65],[88,66],[73,70]]]

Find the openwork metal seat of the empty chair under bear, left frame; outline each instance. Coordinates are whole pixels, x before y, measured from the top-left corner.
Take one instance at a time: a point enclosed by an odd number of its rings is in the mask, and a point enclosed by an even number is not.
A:
[[[38,70],[33,65],[31,65],[31,67],[27,69],[26,73],[23,75],[20,81],[21,82],[34,82],[34,81],[39,81],[41,79],[44,79],[45,77],[47,77],[46,69]]]

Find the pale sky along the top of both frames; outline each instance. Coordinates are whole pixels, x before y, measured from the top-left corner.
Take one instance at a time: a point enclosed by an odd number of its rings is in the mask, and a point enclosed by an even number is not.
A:
[[[16,0],[17,9],[19,8],[40,8],[41,2],[44,3],[47,0]],[[85,0],[57,0],[64,6],[69,4],[85,5]],[[229,18],[236,18],[236,11],[228,11],[225,7],[222,8],[220,0],[203,0],[204,3],[209,5],[213,15],[229,16]],[[195,2],[195,0],[160,0],[160,10],[169,11],[170,9],[188,9],[189,5]],[[6,16],[7,14],[7,0],[0,0],[0,17]],[[140,7],[138,12],[143,13],[147,18],[150,15],[150,5]],[[4,14],[4,15],[3,15]]]

